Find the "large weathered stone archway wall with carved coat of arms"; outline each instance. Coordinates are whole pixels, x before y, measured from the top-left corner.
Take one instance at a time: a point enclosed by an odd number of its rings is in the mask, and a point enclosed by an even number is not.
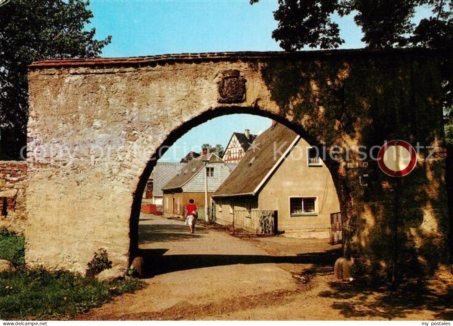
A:
[[[393,138],[436,146],[434,160],[422,160],[422,149],[401,201],[404,259],[410,270],[432,273],[448,252],[438,72],[430,53],[407,50],[35,62],[27,262],[82,272],[102,247],[126,268],[135,243],[133,194],[154,165],[150,158],[188,128],[241,112],[278,120],[331,152],[333,145],[349,149],[348,157],[333,153],[338,159],[327,166],[347,226],[345,255],[362,273],[388,273],[392,180],[370,158],[363,169],[347,163],[358,161],[359,146]]]

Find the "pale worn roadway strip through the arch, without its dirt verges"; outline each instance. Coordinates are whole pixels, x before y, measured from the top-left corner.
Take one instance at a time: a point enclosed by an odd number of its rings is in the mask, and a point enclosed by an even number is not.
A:
[[[182,221],[142,216],[140,249],[149,262],[148,286],[93,309],[88,319],[142,319],[175,306],[298,288],[291,273],[263,249],[204,227],[190,234]]]

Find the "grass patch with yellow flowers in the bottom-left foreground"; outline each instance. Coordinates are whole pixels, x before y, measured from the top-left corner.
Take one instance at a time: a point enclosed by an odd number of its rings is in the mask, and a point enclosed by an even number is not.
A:
[[[19,268],[0,273],[0,318],[9,320],[64,319],[99,307],[143,282],[128,278],[100,283],[71,272]]]

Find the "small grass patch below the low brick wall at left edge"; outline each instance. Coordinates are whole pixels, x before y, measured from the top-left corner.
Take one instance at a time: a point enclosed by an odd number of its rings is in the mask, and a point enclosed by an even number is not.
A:
[[[25,264],[25,237],[7,229],[0,230],[0,259],[9,260],[14,266]]]

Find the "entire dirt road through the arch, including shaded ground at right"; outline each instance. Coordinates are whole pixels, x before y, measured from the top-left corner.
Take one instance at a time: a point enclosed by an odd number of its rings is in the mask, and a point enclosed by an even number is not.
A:
[[[77,319],[88,320],[439,320],[453,317],[451,279],[407,294],[336,282],[340,255],[327,240],[237,239],[143,215],[146,288]],[[304,272],[304,278],[294,274]],[[309,285],[305,279],[314,275]],[[440,288],[439,288],[440,286]],[[423,290],[424,294],[420,295]]]

